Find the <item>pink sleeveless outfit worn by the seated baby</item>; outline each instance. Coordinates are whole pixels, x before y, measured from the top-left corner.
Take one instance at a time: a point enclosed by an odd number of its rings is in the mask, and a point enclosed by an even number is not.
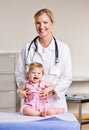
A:
[[[23,109],[27,106],[32,109],[38,110],[40,112],[45,112],[50,107],[47,99],[42,99],[40,92],[45,88],[43,81],[40,82],[40,86],[27,81],[26,88],[30,90],[29,98],[26,100],[25,105],[21,108],[21,113],[23,114]]]

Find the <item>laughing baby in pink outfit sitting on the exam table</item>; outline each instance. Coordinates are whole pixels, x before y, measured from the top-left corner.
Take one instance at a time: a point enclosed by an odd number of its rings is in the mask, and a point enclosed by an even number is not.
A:
[[[26,72],[27,82],[18,88],[18,94],[25,97],[25,104],[20,112],[27,116],[51,116],[64,112],[64,108],[51,107],[48,102],[49,95],[54,91],[55,85],[42,80],[44,76],[43,65],[33,62]]]

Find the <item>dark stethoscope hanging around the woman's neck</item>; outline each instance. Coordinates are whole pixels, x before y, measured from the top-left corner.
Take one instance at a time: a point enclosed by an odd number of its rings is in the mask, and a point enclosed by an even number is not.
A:
[[[39,37],[39,36],[36,36],[36,37],[31,41],[31,43],[30,43],[30,45],[29,45],[29,47],[28,47],[28,54],[29,54],[31,45],[32,45],[33,43],[34,43],[34,45],[35,45],[35,51],[34,51],[34,53],[37,52],[38,47],[37,47],[37,44],[36,44],[36,40],[37,40],[38,37]],[[56,64],[56,63],[58,63],[58,46],[57,46],[57,41],[56,41],[55,37],[53,37],[53,39],[54,39],[54,44],[55,44],[55,64]],[[28,55],[27,55],[27,58],[28,58]]]

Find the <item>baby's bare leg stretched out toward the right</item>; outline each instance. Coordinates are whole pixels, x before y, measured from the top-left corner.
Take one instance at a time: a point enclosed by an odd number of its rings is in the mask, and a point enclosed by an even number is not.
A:
[[[48,108],[47,110],[47,116],[51,116],[51,115],[55,115],[55,114],[61,114],[61,113],[64,113],[64,108],[54,108],[54,107],[51,107],[51,108]]]

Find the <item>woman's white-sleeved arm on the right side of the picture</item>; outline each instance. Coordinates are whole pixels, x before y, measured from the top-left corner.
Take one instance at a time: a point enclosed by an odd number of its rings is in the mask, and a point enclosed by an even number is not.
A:
[[[58,63],[58,68],[60,67],[60,62]],[[65,95],[70,84],[72,83],[72,62],[71,54],[68,46],[62,50],[61,54],[61,74],[57,81],[54,81],[56,88],[55,93],[60,97]]]

